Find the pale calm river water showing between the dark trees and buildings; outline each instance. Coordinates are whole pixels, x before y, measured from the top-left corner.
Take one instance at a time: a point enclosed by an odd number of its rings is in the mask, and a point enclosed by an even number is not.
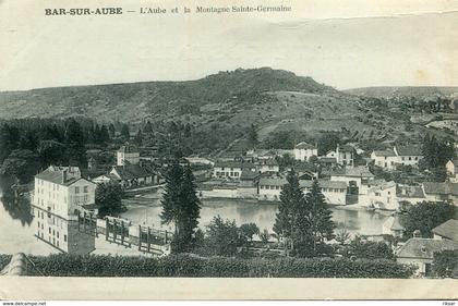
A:
[[[1,180],[0,180],[1,181]],[[1,188],[1,184],[0,184]],[[0,195],[2,192],[0,189]],[[147,200],[145,200],[147,199]],[[167,229],[160,225],[160,200],[154,195],[144,196],[142,204],[126,201],[128,211],[122,217],[133,223]],[[9,204],[0,200],[0,254],[23,252],[33,255],[48,255],[59,253],[58,249],[35,236],[36,218],[29,213],[28,201]],[[270,233],[275,222],[278,205],[258,204],[249,200],[233,199],[204,199],[201,210],[200,227],[205,229],[215,216],[236,220],[238,225],[255,223],[261,230],[267,229]],[[354,210],[333,207],[333,220],[338,229],[347,229],[352,234],[381,234],[382,224],[388,215],[373,211]],[[171,229],[170,229],[171,230]],[[125,248],[106,242],[103,237],[95,240],[94,254],[138,255],[133,248]]]

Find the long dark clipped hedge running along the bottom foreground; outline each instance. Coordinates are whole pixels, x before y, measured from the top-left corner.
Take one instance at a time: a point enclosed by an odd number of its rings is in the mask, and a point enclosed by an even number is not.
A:
[[[0,257],[2,258],[2,257]],[[107,255],[31,256],[50,277],[191,277],[191,278],[410,278],[409,266],[386,259],[276,258],[241,259],[181,254],[162,258]],[[3,259],[0,259],[3,260]],[[0,261],[1,262],[1,261]],[[39,274],[32,270],[31,274]]]

